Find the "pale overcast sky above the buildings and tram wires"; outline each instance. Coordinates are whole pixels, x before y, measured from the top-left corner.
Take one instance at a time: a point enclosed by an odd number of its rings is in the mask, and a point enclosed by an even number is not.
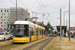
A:
[[[15,3],[16,0],[0,0],[0,8],[16,7]],[[75,0],[70,0],[70,3],[70,26],[75,27]],[[69,11],[69,0],[17,0],[17,4],[18,7],[28,9],[30,17],[32,17],[32,12],[45,14],[44,16],[42,14],[37,14],[37,22],[43,21],[46,25],[48,21],[50,21],[52,26],[60,25],[60,9],[62,9],[62,25],[64,25],[64,12]],[[35,17],[35,13],[33,13],[33,17]],[[69,26],[68,12],[65,13],[65,25]]]

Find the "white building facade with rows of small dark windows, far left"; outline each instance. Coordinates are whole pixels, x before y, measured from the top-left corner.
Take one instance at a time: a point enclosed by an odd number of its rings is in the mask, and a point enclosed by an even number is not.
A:
[[[7,29],[9,23],[10,9],[0,9],[0,29]]]

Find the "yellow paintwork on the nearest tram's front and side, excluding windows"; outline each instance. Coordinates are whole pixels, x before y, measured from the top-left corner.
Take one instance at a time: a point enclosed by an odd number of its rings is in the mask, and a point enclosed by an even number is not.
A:
[[[31,35],[31,38],[30,38],[30,29],[29,29],[29,37],[13,37],[13,42],[14,43],[22,43],[22,42],[30,42],[30,39],[31,41],[35,41],[35,40],[38,40],[38,39],[42,39],[42,38],[45,38],[45,34],[44,34],[44,30],[43,28],[40,28],[40,27],[36,27],[34,25],[30,25],[29,24],[29,27],[33,27],[34,28],[34,35]],[[38,36],[36,35],[36,29],[38,29]],[[41,35],[40,35],[40,31],[41,30]],[[43,35],[42,35],[42,30],[43,30]]]

